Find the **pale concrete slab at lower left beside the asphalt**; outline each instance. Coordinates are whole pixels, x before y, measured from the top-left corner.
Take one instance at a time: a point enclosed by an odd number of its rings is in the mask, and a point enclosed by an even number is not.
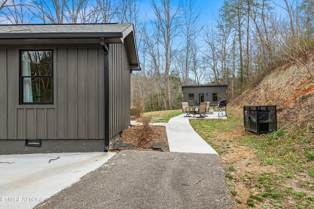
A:
[[[0,155],[0,208],[32,209],[97,169],[115,154]]]

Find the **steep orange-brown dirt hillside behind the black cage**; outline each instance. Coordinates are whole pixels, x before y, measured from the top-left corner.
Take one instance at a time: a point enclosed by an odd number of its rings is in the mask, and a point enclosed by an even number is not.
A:
[[[308,65],[314,74],[314,62]],[[297,122],[314,128],[314,79],[309,70],[296,65],[275,70],[253,90],[247,90],[230,102],[243,105],[277,105],[278,122]]]

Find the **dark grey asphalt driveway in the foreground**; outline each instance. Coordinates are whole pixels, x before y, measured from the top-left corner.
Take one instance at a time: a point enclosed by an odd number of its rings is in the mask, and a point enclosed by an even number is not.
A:
[[[232,206],[216,154],[122,151],[37,209],[223,209]]]

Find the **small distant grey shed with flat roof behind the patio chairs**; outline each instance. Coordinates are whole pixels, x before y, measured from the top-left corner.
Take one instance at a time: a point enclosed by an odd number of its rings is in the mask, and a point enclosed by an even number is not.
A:
[[[198,105],[200,102],[210,102],[210,105],[217,105],[219,100],[227,98],[228,85],[199,85],[182,86],[183,102],[188,105]]]

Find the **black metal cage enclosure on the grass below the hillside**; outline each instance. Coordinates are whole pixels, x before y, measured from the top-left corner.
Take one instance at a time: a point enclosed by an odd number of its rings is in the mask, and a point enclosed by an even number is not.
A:
[[[243,106],[245,130],[265,134],[277,131],[276,105]]]

